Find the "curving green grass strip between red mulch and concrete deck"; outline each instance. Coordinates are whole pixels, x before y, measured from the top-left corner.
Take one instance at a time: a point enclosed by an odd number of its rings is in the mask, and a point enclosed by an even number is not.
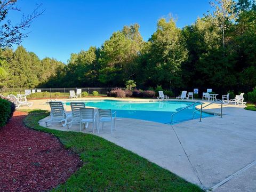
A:
[[[162,167],[96,135],[46,129],[38,121],[49,115],[30,110],[24,122],[54,134],[63,146],[79,154],[83,166],[53,191],[202,191]],[[171,159],[170,159],[171,161]]]

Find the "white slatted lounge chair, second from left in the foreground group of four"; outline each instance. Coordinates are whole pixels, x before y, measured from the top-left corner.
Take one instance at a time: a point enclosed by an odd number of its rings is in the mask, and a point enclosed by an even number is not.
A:
[[[72,117],[71,121],[67,123],[68,129],[71,128],[73,123],[80,123],[80,109],[85,108],[85,104],[84,102],[70,102],[70,107],[72,111]]]

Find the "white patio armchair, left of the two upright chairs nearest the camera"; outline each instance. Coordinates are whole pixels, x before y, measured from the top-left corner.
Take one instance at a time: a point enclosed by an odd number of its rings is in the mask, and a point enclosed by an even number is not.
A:
[[[94,113],[94,108],[81,108],[80,112],[80,132],[82,131],[82,124],[84,124],[84,129],[86,129],[89,123],[93,123],[92,132],[94,133],[94,127],[97,127],[96,116],[97,112]],[[85,125],[86,124],[86,125]]]

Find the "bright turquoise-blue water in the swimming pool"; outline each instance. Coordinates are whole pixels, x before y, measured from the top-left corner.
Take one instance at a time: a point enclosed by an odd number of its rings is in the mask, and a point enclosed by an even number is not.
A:
[[[191,105],[192,102],[182,101],[159,101],[159,102],[127,102],[127,101],[84,101],[86,107],[97,107],[101,109],[112,109],[116,111],[117,117],[135,118],[158,123],[170,123],[171,115],[182,108]],[[70,102],[66,102],[70,105]],[[173,122],[190,120],[195,111],[195,105],[191,106],[179,114],[173,116]],[[202,117],[210,117],[211,114],[203,113]],[[199,118],[199,113],[195,113],[194,118]]]

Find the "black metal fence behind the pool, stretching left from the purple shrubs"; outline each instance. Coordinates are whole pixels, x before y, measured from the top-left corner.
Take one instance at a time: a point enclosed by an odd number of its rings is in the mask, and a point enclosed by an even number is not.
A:
[[[9,94],[27,94],[27,98],[65,98],[69,97],[69,91],[74,90],[77,92],[78,89],[81,89],[82,92],[87,92],[89,95],[93,91],[97,91],[99,95],[106,95],[108,91],[111,91],[115,87],[73,87],[73,88],[34,88],[34,89],[25,89],[25,88],[3,88],[0,89],[0,94],[5,97]],[[30,90],[30,91],[28,91]]]

